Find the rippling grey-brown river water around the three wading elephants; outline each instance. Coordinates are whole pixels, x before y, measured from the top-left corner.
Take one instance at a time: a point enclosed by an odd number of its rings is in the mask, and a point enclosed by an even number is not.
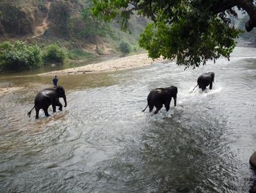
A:
[[[249,192],[256,49],[183,69],[170,62],[59,77],[68,105],[39,120],[26,114],[51,77],[1,75],[0,85],[24,89],[0,98],[0,192]],[[209,71],[213,89],[192,91]],[[152,88],[170,85],[176,107],[141,112]]]

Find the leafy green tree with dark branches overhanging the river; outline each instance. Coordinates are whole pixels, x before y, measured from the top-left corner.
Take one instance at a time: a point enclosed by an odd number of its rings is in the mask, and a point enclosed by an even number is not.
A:
[[[140,34],[139,44],[149,57],[177,59],[178,65],[193,68],[223,56],[229,59],[235,39],[242,32],[230,16],[246,11],[246,30],[256,26],[253,0],[93,0],[93,14],[105,21],[118,19],[126,29],[134,12],[152,19]],[[237,6],[237,9],[234,7]]]

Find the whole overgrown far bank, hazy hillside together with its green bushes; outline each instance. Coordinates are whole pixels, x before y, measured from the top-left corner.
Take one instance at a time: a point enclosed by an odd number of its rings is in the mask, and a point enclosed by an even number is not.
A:
[[[0,43],[12,42],[10,50],[16,49],[13,52],[19,57],[11,60],[6,50],[1,54],[0,70],[26,70],[46,63],[63,63],[66,59],[91,60],[104,54],[142,50],[138,47],[138,36],[147,19],[134,15],[127,25],[131,33],[126,33],[116,22],[93,17],[92,6],[92,0],[1,0]],[[14,48],[17,39],[26,42],[21,43],[24,48]],[[122,40],[126,44],[120,46]],[[36,50],[34,47],[39,53],[35,62],[29,60],[32,57],[27,53],[32,48]],[[22,61],[19,52],[28,55],[29,62]]]

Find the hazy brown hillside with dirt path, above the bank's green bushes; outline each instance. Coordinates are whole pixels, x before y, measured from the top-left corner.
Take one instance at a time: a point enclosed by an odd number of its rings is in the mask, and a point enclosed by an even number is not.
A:
[[[42,46],[58,43],[68,50],[80,48],[92,54],[116,54],[118,43],[125,41],[138,50],[138,34],[147,20],[134,15],[129,23],[131,34],[121,32],[116,23],[110,23],[104,35],[92,28],[97,23],[82,17],[89,0],[1,0],[0,41],[23,40]],[[91,29],[90,29],[91,28]]]

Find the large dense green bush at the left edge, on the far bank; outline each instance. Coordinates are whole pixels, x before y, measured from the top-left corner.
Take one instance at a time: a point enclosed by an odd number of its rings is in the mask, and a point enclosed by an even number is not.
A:
[[[38,45],[26,45],[23,41],[0,44],[1,70],[28,70],[42,65],[42,50]]]

